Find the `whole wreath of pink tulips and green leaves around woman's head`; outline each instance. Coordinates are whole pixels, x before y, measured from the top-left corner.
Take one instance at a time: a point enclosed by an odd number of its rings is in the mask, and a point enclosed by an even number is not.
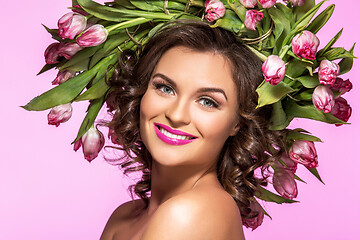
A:
[[[351,90],[343,75],[351,70],[353,49],[334,47],[340,30],[323,49],[316,33],[331,17],[334,5],[321,13],[325,1],[314,0],[114,0],[104,5],[73,0],[73,7],[58,21],[58,29],[46,30],[56,41],[45,51],[46,65],[39,74],[56,68],[52,82],[58,85],[24,106],[29,111],[51,109],[49,124],[59,126],[72,113],[71,104],[89,101],[89,108],[73,141],[92,161],[104,145],[103,134],[94,127],[106,102],[112,107],[106,84],[121,52],[135,50],[164,23],[174,19],[208,21],[234,33],[264,63],[264,81],[258,86],[258,107],[271,104],[271,130],[287,129],[294,118],[308,118],[340,126],[346,124],[351,107],[343,94]],[[287,151],[273,166],[272,184],[278,194],[259,189],[258,199],[292,203],[297,196],[297,164],[304,165],[320,181],[314,142],[321,141],[304,129],[287,129]],[[95,144],[94,144],[95,143]],[[256,200],[256,219],[244,225],[255,229],[267,214]]]

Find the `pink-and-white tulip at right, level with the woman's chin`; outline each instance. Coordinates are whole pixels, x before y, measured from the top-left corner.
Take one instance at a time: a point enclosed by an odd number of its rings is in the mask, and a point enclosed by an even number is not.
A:
[[[289,157],[307,168],[315,168],[319,165],[316,148],[311,141],[296,140],[289,150]]]

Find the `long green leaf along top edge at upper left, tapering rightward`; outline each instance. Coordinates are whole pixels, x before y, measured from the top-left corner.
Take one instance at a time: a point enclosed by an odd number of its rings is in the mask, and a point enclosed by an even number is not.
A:
[[[170,20],[175,17],[174,14],[108,7],[91,0],[78,0],[78,3],[86,12],[107,21],[122,22],[128,20],[129,17],[144,17],[147,19],[163,20]]]

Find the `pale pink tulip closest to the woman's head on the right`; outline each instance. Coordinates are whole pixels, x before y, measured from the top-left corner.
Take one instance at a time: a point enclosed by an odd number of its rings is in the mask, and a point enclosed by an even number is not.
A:
[[[270,55],[262,65],[265,81],[276,85],[285,77],[285,62],[277,55]]]

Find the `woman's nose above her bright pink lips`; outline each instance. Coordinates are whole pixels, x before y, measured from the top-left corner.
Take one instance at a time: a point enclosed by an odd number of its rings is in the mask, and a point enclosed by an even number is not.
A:
[[[177,99],[169,106],[165,116],[173,127],[187,125],[191,121],[189,107],[185,99]]]

